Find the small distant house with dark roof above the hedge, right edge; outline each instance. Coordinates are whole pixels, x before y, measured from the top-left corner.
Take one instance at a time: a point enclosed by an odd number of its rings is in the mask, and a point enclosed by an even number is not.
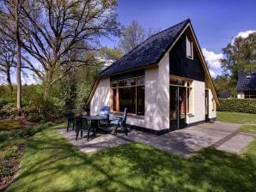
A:
[[[239,75],[236,90],[238,99],[256,99],[256,73]]]

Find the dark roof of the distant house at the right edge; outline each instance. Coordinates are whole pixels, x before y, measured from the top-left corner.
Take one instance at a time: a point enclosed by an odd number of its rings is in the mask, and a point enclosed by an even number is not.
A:
[[[256,91],[256,73],[239,75],[236,90]]]

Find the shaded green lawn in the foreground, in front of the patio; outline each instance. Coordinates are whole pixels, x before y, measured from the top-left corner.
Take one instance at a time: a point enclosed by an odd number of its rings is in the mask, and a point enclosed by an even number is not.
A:
[[[45,129],[7,191],[254,191],[255,146],[242,155],[204,148],[188,159],[141,143],[85,154]]]

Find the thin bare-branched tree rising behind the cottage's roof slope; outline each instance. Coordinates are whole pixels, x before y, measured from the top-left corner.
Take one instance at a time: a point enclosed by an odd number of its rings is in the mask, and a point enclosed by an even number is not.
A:
[[[122,31],[119,47],[124,53],[129,52],[141,44],[146,36],[145,29],[137,21],[131,21],[131,25]]]

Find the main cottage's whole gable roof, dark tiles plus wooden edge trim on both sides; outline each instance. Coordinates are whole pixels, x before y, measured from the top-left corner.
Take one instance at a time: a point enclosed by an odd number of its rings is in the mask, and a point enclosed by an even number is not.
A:
[[[137,45],[137,47],[128,52],[124,57],[121,57],[119,60],[107,67],[107,69],[102,70],[101,73],[96,76],[94,86],[89,93],[88,102],[92,99],[94,91],[101,78],[121,74],[129,70],[143,69],[151,65],[157,65],[165,53],[170,51],[177,40],[180,39],[181,34],[184,33],[186,28],[189,28],[192,33],[192,41],[195,45],[196,51],[198,51],[199,59],[204,68],[205,83],[210,87],[213,97],[216,100],[216,105],[220,105],[209,69],[207,68],[204,60],[203,52],[198,44],[198,39],[189,19],[182,21],[173,27],[169,27],[160,33],[155,33],[142,44]]]

